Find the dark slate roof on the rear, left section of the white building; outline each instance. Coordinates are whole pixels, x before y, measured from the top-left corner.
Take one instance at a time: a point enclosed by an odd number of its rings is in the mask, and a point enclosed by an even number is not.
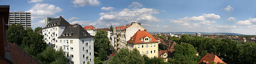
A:
[[[67,22],[67,20],[65,20],[61,16],[59,18],[56,18],[56,19],[52,20],[46,26],[49,26],[51,24],[56,24],[55,26],[69,26],[70,25],[70,23]],[[45,27],[45,28],[51,28],[51,27],[55,27],[55,26],[50,26],[50,27]],[[43,28],[43,29],[45,29],[45,28]]]

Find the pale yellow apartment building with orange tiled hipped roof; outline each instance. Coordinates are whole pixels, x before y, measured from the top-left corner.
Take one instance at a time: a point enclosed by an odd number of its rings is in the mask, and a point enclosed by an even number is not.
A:
[[[158,43],[156,39],[151,36],[148,31],[138,30],[130,40],[127,41],[128,49],[138,49],[140,54],[147,55],[149,58],[154,58],[154,56],[158,57]]]

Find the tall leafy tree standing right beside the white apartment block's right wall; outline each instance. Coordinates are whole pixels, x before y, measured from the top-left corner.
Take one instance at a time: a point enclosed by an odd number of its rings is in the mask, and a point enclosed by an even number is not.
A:
[[[100,48],[104,49],[105,51],[110,49],[110,41],[107,36],[107,32],[99,29],[94,37],[94,51],[99,53]],[[95,55],[97,56],[97,55]]]

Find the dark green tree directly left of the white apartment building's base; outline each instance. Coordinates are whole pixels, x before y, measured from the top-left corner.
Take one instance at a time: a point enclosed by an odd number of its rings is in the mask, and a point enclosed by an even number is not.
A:
[[[46,43],[44,42],[43,35],[28,30],[28,36],[25,36],[22,41],[21,48],[23,48],[28,54],[36,56],[36,54],[41,53],[46,48]]]

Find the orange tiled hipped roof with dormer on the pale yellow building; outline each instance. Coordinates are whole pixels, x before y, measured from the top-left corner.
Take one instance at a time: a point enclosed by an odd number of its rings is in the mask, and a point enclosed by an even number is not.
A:
[[[145,38],[145,36],[147,36],[148,38],[151,38],[151,41],[149,42],[144,42],[144,41],[141,41],[141,38]],[[134,38],[132,40],[132,38]],[[149,39],[148,39],[149,40]],[[148,31],[137,31],[129,41],[127,41],[129,43],[133,43],[133,44],[143,44],[143,43],[156,43],[156,42],[159,42],[159,41],[156,41],[156,39],[151,36]]]

